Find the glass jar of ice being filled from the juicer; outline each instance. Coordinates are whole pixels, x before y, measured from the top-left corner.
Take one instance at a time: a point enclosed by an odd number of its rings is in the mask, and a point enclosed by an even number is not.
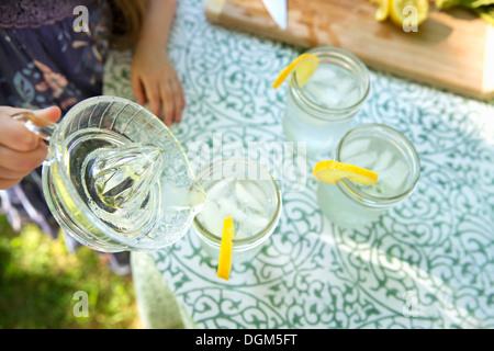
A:
[[[233,217],[232,263],[252,260],[278,226],[282,201],[271,174],[249,159],[222,159],[199,176],[207,201],[193,220],[201,247],[213,261],[220,258],[223,219]]]

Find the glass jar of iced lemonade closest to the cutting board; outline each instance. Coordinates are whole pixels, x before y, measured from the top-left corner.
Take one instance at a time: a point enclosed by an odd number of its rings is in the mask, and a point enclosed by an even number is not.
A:
[[[301,87],[291,75],[283,120],[285,137],[306,143],[310,155],[332,150],[350,129],[369,95],[366,65],[353,54],[322,46],[307,52],[318,58],[312,78]]]

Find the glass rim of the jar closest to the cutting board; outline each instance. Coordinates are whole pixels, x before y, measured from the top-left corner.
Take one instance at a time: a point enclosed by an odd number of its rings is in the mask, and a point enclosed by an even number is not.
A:
[[[304,102],[305,105],[307,105],[310,109],[319,112],[319,113],[333,113],[333,114],[346,114],[348,112],[351,112],[352,110],[357,109],[359,105],[366,101],[367,97],[370,92],[370,79],[369,79],[369,70],[367,66],[352,53],[343,49],[340,47],[334,47],[334,46],[318,46],[313,49],[310,49],[306,52],[307,54],[313,54],[319,58],[319,60],[323,57],[329,57],[334,59],[340,60],[340,63],[345,63],[345,65],[339,64],[340,66],[345,67],[347,70],[351,71],[357,78],[363,77],[363,79],[358,79],[360,82],[360,86],[363,86],[363,92],[360,95],[359,100],[355,102],[353,104],[343,107],[343,109],[335,109],[335,107],[327,107],[323,106],[319,103],[315,102],[313,99],[306,97],[303,91],[301,90],[301,87],[299,84],[299,81],[296,80],[296,72],[293,72],[290,78],[290,93],[293,93]],[[345,117],[341,120],[350,118]],[[319,120],[327,120],[327,118],[321,118]],[[339,120],[339,118],[338,118]]]

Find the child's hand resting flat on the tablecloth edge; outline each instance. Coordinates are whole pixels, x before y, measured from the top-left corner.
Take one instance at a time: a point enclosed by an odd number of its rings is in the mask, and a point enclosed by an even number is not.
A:
[[[173,64],[160,46],[137,44],[132,61],[132,90],[139,104],[149,102],[153,114],[170,126],[186,106],[182,84]]]

